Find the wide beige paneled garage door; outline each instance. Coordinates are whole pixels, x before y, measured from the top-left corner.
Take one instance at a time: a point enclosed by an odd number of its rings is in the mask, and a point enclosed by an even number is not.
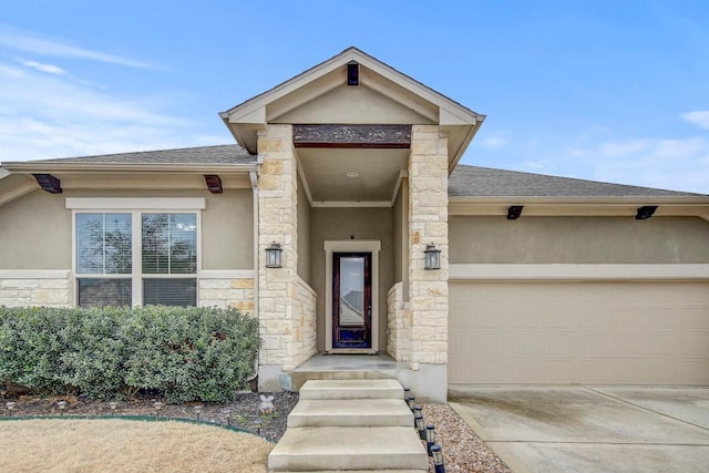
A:
[[[450,383],[709,384],[707,282],[451,282]]]

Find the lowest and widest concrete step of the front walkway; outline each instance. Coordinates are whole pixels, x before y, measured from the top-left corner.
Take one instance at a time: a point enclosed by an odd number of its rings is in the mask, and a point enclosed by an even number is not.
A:
[[[429,457],[413,426],[288,428],[268,455],[275,472],[427,472]]]

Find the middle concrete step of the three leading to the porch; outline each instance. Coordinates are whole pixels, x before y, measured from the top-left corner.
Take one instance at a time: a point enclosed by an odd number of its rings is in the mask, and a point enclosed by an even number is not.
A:
[[[291,426],[413,428],[413,413],[401,399],[305,399],[288,415]]]

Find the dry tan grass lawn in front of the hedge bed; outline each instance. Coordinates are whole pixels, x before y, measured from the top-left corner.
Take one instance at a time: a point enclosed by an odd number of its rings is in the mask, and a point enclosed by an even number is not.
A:
[[[267,472],[274,448],[212,425],[124,420],[0,422],[0,471]]]

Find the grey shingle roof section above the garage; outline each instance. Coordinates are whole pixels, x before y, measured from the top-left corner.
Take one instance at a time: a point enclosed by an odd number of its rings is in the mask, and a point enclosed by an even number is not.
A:
[[[453,171],[448,193],[454,197],[690,197],[701,195],[462,164]]]

